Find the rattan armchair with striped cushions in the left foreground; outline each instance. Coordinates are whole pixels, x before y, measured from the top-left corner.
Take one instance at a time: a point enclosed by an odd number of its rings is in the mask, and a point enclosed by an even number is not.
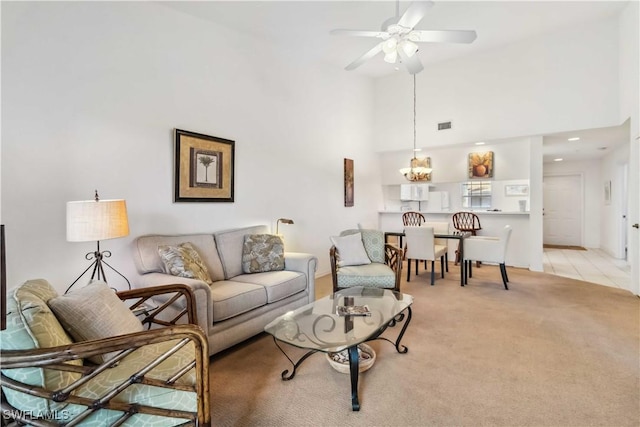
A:
[[[74,307],[87,289],[91,298]],[[210,425],[208,342],[193,324],[189,287],[116,294],[94,282],[80,291],[58,296],[45,280],[9,291],[0,333],[3,416],[38,426]],[[169,314],[172,305],[182,309]],[[120,328],[125,318],[136,332],[73,338],[109,330],[112,321]]]

